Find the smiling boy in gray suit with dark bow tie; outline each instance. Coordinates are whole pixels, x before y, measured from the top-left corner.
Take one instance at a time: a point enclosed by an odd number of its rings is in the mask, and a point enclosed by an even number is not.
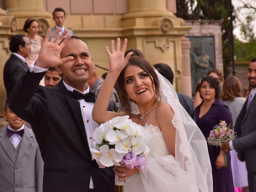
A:
[[[8,107],[0,130],[0,191],[42,192],[43,160],[31,129]]]

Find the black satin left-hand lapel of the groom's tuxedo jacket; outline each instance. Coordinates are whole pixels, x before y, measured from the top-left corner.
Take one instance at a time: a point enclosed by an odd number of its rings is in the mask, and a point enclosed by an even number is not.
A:
[[[66,98],[66,100],[68,101],[72,112],[74,114],[74,117],[76,118],[76,122],[78,124],[79,130],[82,133],[82,136],[84,138],[84,140],[86,141],[86,149],[88,149],[89,153],[89,145],[88,145],[88,141],[87,141],[87,137],[86,137],[86,132],[85,132],[85,128],[84,128],[84,121],[82,118],[82,113],[81,113],[81,108],[80,108],[80,103],[78,102],[78,100],[76,100],[70,91],[67,90],[67,88],[64,86],[63,84],[63,80],[60,81],[60,83],[58,83],[58,85],[55,86],[55,89],[59,90],[64,97]]]

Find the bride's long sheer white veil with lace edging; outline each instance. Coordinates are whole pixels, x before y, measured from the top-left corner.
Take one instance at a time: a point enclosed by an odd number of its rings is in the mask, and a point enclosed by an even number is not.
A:
[[[147,157],[147,166],[140,174],[126,180],[124,190],[212,192],[212,168],[206,139],[180,104],[172,84],[156,70],[155,72],[160,82],[162,102],[169,104],[174,110],[172,124],[176,128],[175,157],[151,154]],[[131,106],[132,113],[138,114],[136,104]]]

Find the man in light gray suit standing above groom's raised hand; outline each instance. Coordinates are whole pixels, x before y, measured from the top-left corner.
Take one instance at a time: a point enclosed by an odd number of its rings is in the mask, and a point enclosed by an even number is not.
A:
[[[58,28],[60,28],[61,30],[60,30],[60,32],[58,33],[57,38],[60,37],[60,35],[62,34],[62,32],[64,32],[65,29],[68,31],[67,35],[74,36],[74,33],[73,33],[72,30],[70,30],[70,29],[64,27],[64,21],[65,21],[65,19],[66,19],[66,14],[65,14],[64,9],[62,9],[62,8],[55,8],[54,11],[53,11],[53,13],[52,13],[52,15],[53,15],[52,18],[53,18],[53,20],[55,21],[55,24],[56,24],[56,25],[55,25],[53,28],[51,28],[51,33],[50,33],[50,38],[49,38],[49,40],[52,39],[53,34],[56,32],[56,30],[57,30]]]

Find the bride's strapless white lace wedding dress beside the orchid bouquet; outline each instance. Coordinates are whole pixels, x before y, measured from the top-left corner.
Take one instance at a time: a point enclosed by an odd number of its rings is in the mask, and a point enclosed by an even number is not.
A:
[[[194,181],[193,186],[191,178],[186,180],[186,173],[178,168],[179,165],[170,154],[160,129],[152,125],[144,128],[150,133],[151,138],[148,144],[150,148],[150,154],[147,157],[148,164],[144,170],[140,171],[140,174],[125,181],[124,192],[198,191],[196,182]]]

